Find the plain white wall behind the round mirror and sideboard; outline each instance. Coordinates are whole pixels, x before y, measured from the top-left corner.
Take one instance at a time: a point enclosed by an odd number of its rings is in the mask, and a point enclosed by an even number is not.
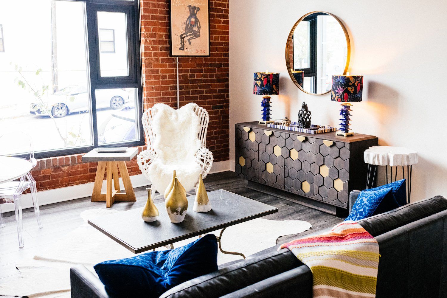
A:
[[[256,121],[261,114],[260,97],[252,91],[253,72],[281,73],[273,118],[296,119],[306,101],[312,123],[338,123],[339,105],[329,94],[301,92],[285,64],[290,29],[299,17],[317,10],[333,13],[345,24],[351,39],[348,71],[364,76],[363,102],[352,107],[353,130],[379,137],[380,145],[419,152],[412,201],[447,196],[445,0],[230,0],[232,163],[234,124]]]

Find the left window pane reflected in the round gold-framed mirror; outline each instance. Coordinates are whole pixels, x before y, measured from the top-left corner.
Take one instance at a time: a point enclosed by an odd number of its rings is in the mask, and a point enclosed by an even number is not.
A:
[[[293,33],[293,61],[295,69],[309,67],[309,22],[300,21]]]

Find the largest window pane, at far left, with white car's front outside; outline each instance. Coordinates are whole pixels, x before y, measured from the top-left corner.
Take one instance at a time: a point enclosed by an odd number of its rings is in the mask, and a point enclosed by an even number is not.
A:
[[[84,3],[1,5],[10,42],[0,55],[0,134],[23,130],[34,151],[93,145]]]

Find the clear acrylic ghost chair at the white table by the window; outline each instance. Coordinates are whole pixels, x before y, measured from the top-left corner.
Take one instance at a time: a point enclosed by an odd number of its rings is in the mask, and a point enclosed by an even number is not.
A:
[[[21,158],[28,160],[34,168],[37,164],[34,158],[33,145],[30,137],[23,132],[16,132],[10,134],[3,134],[0,136],[0,155],[11,155],[19,153]],[[7,169],[6,169],[7,170]],[[39,205],[37,201],[37,187],[31,173],[28,172],[20,178],[0,184],[0,206],[4,203],[13,203],[16,214],[17,234],[19,238],[19,247],[23,247],[23,224],[22,224],[22,206],[21,195],[26,190],[30,189],[31,198],[34,205],[34,213],[39,228],[42,227],[40,222]],[[0,207],[0,227],[4,227],[3,215]]]

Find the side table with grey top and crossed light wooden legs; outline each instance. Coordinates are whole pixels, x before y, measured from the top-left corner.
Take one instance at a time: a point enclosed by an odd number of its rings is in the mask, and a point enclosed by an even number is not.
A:
[[[126,152],[99,153],[93,149],[82,156],[83,162],[98,162],[96,170],[95,184],[93,185],[92,202],[105,201],[105,206],[110,208],[115,201],[135,202],[134,188],[132,187],[131,177],[127,172],[126,161],[132,160],[137,155],[137,148],[128,148]],[[124,184],[125,193],[122,193],[119,187],[118,169]],[[104,173],[107,177],[107,191],[101,193]],[[112,180],[114,189],[112,189]]]

